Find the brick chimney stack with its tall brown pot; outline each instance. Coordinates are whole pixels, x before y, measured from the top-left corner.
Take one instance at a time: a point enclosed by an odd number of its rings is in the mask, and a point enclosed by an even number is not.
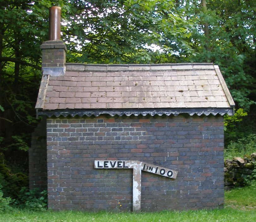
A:
[[[61,8],[49,8],[49,41],[43,42],[42,71],[43,75],[64,76],[66,72],[66,45],[60,40]]]

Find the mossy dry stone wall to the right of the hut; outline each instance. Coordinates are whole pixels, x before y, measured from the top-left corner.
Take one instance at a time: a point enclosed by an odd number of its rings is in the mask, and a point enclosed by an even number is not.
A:
[[[224,161],[224,185],[225,190],[246,185],[245,179],[252,175],[256,164],[256,153],[244,158],[233,157]]]

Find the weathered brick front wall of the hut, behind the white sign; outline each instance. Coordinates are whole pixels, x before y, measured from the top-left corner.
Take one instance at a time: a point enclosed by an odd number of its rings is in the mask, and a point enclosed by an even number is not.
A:
[[[220,207],[223,130],[223,117],[211,115],[48,118],[48,206],[132,210],[132,169],[94,169],[102,159],[178,171],[176,179],[142,172],[143,211]]]

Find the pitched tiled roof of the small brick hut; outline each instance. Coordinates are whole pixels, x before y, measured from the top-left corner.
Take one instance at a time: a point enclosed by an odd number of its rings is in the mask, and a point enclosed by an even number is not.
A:
[[[66,69],[64,76],[43,75],[37,109],[224,109],[231,114],[235,105],[213,64],[66,64]]]

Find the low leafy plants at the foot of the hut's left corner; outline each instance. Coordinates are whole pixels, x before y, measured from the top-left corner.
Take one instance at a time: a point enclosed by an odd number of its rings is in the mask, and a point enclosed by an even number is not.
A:
[[[22,187],[15,203],[20,208],[44,211],[47,209],[47,191],[40,192],[36,188],[29,190],[28,187]]]

